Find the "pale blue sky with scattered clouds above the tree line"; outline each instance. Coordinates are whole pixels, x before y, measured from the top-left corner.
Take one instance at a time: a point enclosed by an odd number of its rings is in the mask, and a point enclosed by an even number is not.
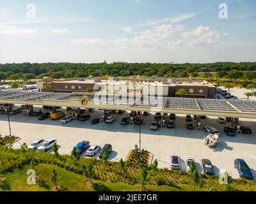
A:
[[[0,63],[254,62],[255,0],[0,0]]]

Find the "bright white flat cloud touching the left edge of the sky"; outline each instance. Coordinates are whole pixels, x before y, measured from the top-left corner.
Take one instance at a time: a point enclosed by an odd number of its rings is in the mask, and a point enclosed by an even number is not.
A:
[[[22,35],[22,34],[36,34],[36,29],[23,29],[19,26],[0,25],[0,35]]]

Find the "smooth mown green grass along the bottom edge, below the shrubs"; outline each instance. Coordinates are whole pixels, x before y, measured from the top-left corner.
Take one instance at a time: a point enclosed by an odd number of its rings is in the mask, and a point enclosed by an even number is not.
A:
[[[26,180],[29,175],[26,174],[29,166],[17,168],[13,172],[0,174],[5,177],[4,182],[0,183],[0,191],[54,191],[52,187],[50,174],[55,168],[60,175],[58,185],[61,191],[138,191],[140,186],[131,186],[124,183],[104,182],[101,180],[93,180],[93,184],[86,182],[86,177],[72,171],[67,171],[52,164],[39,164],[36,167],[36,184],[29,185]],[[148,191],[189,191],[190,186],[147,186]]]

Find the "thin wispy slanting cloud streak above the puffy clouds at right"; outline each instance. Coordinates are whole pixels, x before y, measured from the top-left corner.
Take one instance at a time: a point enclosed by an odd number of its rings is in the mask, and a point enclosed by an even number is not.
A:
[[[180,15],[177,15],[176,17],[166,17],[161,20],[150,20],[145,22],[143,25],[158,25],[158,24],[175,24],[182,20],[186,20],[189,18],[195,17],[196,13],[182,13]]]

